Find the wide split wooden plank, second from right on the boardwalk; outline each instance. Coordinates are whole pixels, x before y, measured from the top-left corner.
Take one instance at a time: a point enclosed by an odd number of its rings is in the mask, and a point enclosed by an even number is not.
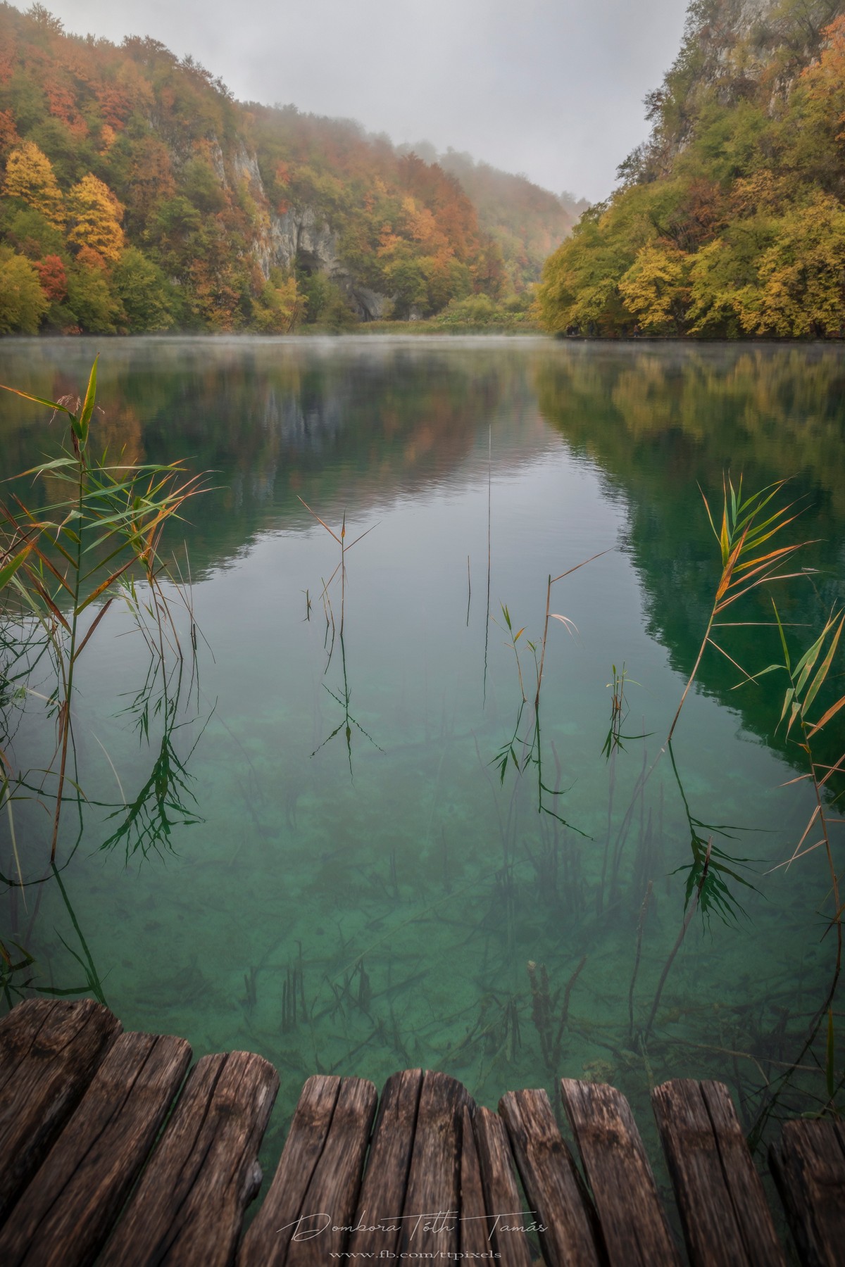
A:
[[[782,1267],[783,1251],[727,1087],[678,1078],[651,1105],[693,1267]]]

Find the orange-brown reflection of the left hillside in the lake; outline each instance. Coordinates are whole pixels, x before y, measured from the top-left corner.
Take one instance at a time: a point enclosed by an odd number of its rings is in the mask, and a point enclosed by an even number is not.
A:
[[[54,353],[39,343],[24,366],[9,352],[0,378],[42,395],[67,389]],[[498,418],[519,419],[494,454],[512,466],[547,443],[532,397],[530,359],[502,342],[467,353],[375,340],[136,341],[115,345],[100,371],[111,452],[125,443],[129,456],[214,473],[215,492],[184,525],[195,575],[264,527],[307,523],[299,493],[340,519],[454,478],[479,436],[486,454]],[[3,400],[0,445],[10,471],[43,447]]]

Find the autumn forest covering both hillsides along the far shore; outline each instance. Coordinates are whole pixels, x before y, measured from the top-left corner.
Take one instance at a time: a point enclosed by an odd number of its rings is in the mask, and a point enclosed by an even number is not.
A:
[[[837,337],[841,8],[693,0],[649,139],[588,207],[0,3],[0,333]]]

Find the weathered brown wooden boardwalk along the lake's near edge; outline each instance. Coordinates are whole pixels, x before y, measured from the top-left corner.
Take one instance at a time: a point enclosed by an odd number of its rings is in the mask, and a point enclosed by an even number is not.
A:
[[[27,1001],[0,1022],[3,1267],[682,1262],[613,1087],[561,1082],[579,1169],[545,1091],[509,1091],[494,1114],[419,1069],[380,1098],[360,1078],[309,1078],[241,1239],[279,1078],[243,1052],[187,1072],[190,1057],[90,1000]],[[785,1267],[726,1087],[668,1082],[652,1102],[689,1262]],[[801,1262],[845,1263],[842,1124],[789,1123],[770,1162]]]

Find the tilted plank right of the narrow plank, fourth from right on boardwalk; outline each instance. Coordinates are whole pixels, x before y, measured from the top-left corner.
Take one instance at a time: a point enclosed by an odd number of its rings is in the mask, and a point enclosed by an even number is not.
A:
[[[531,1219],[547,1263],[599,1263],[594,1211],[583,1192],[545,1091],[508,1091],[499,1101]]]

